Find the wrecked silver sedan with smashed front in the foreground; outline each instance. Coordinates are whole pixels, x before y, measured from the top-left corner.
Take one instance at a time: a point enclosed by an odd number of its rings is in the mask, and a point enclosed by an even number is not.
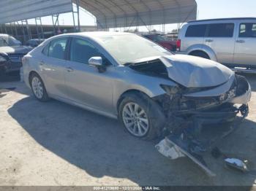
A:
[[[141,139],[172,128],[182,133],[178,121],[208,112],[211,122],[232,122],[238,112],[246,116],[251,97],[246,79],[222,64],[173,55],[127,33],[53,36],[24,56],[23,72],[39,101],[55,98],[118,118]]]

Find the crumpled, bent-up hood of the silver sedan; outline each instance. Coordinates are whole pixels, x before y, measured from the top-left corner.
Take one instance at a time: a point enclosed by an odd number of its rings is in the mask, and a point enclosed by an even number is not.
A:
[[[234,74],[220,63],[190,55],[159,58],[167,68],[168,77],[184,87],[214,87],[227,82]]]

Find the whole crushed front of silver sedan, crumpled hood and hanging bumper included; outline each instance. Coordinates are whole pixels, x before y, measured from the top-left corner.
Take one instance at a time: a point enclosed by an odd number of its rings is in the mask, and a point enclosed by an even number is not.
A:
[[[158,151],[173,160],[186,155],[214,176],[203,155],[248,115],[249,82],[215,62],[201,68],[197,61],[191,64],[177,58],[154,58],[130,63],[129,67],[176,82],[174,86],[161,85],[166,93],[154,97],[167,119],[165,139],[157,144]]]

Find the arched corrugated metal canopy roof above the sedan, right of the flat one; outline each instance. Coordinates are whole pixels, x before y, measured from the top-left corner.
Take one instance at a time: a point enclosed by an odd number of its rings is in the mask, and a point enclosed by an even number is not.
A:
[[[80,0],[80,7],[100,28],[184,23],[197,15],[195,0]]]

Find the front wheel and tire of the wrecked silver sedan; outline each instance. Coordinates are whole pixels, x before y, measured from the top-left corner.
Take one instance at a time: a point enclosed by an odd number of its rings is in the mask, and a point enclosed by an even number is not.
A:
[[[133,116],[131,110],[134,112]],[[165,115],[161,107],[143,93],[125,94],[118,106],[118,117],[125,130],[132,136],[144,140],[161,136],[165,126]]]

